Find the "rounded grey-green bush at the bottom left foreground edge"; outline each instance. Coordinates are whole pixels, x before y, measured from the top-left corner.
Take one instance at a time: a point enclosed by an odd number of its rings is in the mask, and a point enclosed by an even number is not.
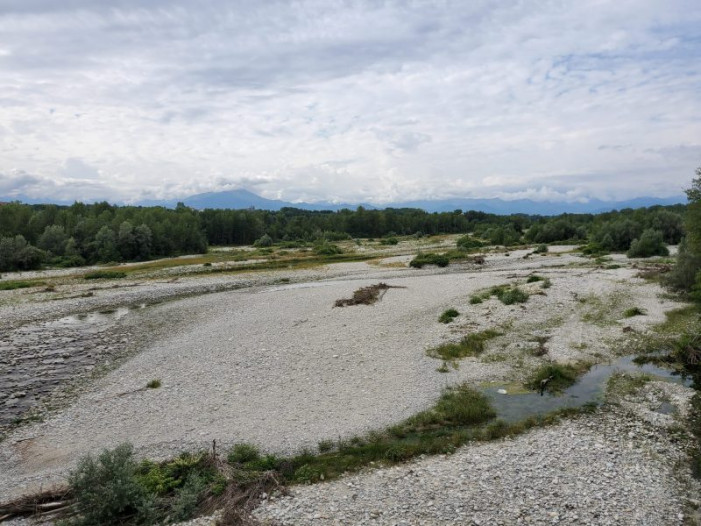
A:
[[[78,524],[122,524],[126,517],[145,521],[152,513],[153,498],[136,478],[133,449],[122,444],[105,450],[96,459],[82,458],[68,477],[81,516]]]

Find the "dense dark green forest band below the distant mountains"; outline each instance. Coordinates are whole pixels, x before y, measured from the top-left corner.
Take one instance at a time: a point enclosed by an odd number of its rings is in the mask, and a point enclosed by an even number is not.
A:
[[[598,251],[626,251],[645,243],[676,244],[684,235],[684,205],[554,217],[498,216],[418,209],[316,212],[284,208],[197,211],[163,207],[0,205],[0,270],[42,265],[143,261],[203,253],[209,245],[320,242],[344,238],[471,233],[490,244],[587,243]]]

